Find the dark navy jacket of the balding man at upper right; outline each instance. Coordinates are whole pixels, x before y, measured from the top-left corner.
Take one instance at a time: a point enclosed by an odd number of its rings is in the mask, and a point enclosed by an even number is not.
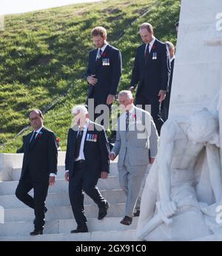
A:
[[[169,51],[165,43],[155,39],[145,64],[145,47],[146,44],[143,44],[137,49],[130,85],[136,87],[138,84],[137,95],[143,93],[147,96],[157,96],[160,90],[166,91],[168,86]],[[153,58],[155,55],[156,59]]]

